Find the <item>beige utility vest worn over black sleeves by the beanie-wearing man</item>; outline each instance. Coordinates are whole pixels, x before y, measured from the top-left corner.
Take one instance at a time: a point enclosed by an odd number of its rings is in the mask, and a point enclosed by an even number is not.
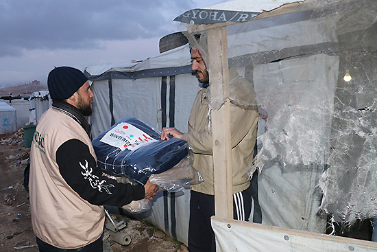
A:
[[[105,221],[104,207],[81,198],[60,175],[56,150],[69,139],[84,142],[97,159],[84,128],[68,115],[49,108],[36,127],[30,152],[34,233],[61,249],[77,249],[94,242],[101,236]]]

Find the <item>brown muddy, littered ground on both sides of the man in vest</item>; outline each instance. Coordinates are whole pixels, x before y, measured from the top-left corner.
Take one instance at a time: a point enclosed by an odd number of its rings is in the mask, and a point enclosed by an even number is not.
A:
[[[0,251],[36,252],[36,239],[32,229],[29,195],[23,186],[23,172],[29,163],[29,149],[25,149],[22,128],[13,134],[0,135]],[[125,216],[131,244],[121,246],[110,239],[104,242],[104,251],[187,251],[184,244],[174,241],[160,229],[148,223]],[[108,220],[107,220],[108,221]]]

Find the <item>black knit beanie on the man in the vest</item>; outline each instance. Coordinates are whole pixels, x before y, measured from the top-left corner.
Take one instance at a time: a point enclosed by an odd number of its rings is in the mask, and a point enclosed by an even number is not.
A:
[[[88,80],[84,73],[73,67],[55,67],[47,78],[47,86],[52,99],[70,98]]]

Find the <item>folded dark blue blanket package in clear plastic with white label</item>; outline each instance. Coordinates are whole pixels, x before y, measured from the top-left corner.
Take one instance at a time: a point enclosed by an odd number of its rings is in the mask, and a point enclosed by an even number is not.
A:
[[[92,141],[97,164],[110,176],[145,185],[151,174],[173,168],[188,154],[186,141],[160,140],[160,133],[133,117],[123,117]]]

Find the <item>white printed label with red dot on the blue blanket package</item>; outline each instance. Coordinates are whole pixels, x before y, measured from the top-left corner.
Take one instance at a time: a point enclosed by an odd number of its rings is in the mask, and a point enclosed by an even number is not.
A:
[[[135,150],[158,140],[153,139],[143,130],[136,128],[132,124],[121,122],[109,130],[100,141],[121,150]]]

